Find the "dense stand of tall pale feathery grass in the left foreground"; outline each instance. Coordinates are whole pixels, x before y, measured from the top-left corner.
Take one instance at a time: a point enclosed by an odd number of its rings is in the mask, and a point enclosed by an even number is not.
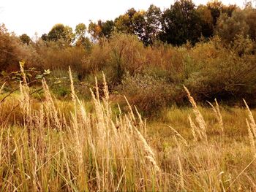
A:
[[[102,101],[96,83],[89,114],[75,95],[70,69],[69,77],[69,123],[45,80],[39,110],[31,107],[26,81],[20,82],[23,124],[1,125],[1,191],[161,191],[161,171],[142,133],[146,123],[132,110],[113,118],[106,82]]]

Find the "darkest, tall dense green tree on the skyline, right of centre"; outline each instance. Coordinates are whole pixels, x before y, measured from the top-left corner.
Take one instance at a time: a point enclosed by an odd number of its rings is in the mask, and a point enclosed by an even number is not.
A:
[[[182,45],[187,41],[198,41],[201,35],[200,16],[191,0],[176,1],[162,15],[162,32],[159,37],[163,42]]]

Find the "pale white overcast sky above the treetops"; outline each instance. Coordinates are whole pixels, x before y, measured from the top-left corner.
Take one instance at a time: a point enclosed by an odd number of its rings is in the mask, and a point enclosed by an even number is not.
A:
[[[15,34],[40,37],[48,33],[56,23],[75,29],[78,23],[89,24],[89,20],[114,20],[127,9],[147,10],[150,4],[162,10],[175,0],[0,0],[0,23]],[[206,4],[208,0],[194,0]],[[222,0],[223,4],[243,6],[244,0]]]

